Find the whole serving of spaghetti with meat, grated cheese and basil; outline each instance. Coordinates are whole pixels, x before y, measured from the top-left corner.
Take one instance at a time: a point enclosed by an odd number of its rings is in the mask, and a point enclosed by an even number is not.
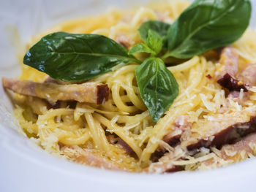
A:
[[[214,169],[256,155],[248,0],[166,1],[30,39],[14,115],[44,150],[127,172]]]

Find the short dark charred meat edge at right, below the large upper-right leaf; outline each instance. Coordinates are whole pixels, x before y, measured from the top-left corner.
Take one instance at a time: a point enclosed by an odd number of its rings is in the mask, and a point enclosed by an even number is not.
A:
[[[234,79],[228,73],[217,80],[217,82],[219,85],[222,85],[223,88],[227,88],[229,91],[240,91],[241,89],[244,89],[244,92],[248,91],[243,82]]]

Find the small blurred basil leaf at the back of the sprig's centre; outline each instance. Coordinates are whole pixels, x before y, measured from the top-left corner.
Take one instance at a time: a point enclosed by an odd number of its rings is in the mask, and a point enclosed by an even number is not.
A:
[[[148,20],[143,23],[140,28],[138,29],[140,33],[141,39],[144,42],[147,42],[148,39],[148,31],[151,29],[159,34],[160,37],[165,37],[167,35],[167,31],[170,28],[170,24],[164,23],[159,20]]]

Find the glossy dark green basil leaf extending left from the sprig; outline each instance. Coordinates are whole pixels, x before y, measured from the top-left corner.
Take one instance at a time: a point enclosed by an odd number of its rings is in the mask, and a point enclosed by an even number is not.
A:
[[[97,34],[48,34],[26,53],[23,63],[57,80],[89,80],[114,66],[137,62],[127,50]]]

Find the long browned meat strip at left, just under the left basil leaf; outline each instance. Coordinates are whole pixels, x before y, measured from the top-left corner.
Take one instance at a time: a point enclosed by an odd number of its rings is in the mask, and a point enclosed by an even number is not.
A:
[[[58,100],[75,100],[103,104],[108,100],[108,85],[97,82],[83,84],[58,85],[56,83],[39,83],[29,80],[2,78],[4,88],[26,96],[36,96],[54,103]]]

